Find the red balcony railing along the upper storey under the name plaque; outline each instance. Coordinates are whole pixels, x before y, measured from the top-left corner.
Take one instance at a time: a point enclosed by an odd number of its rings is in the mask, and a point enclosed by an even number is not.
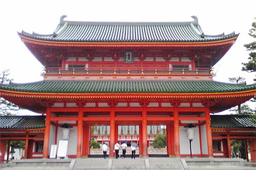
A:
[[[195,70],[189,69],[109,69],[109,68],[90,68],[90,69],[61,69],[47,68],[45,74],[211,74],[210,69],[200,68]]]

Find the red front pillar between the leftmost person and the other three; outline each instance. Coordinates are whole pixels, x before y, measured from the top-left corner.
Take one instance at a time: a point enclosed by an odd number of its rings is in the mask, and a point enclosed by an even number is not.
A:
[[[115,145],[115,128],[116,128],[116,122],[115,122],[115,107],[112,105],[110,110],[110,144],[109,144],[109,157],[114,157],[114,145]]]

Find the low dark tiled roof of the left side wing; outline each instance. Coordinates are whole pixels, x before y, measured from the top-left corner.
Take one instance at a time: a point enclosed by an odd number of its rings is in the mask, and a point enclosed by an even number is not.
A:
[[[35,129],[44,125],[44,116],[0,116],[0,129]]]

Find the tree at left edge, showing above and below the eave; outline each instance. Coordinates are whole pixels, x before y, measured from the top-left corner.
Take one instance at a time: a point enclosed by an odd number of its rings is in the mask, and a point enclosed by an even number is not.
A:
[[[11,83],[12,79],[9,78],[9,70],[3,70],[0,73],[0,82],[2,84],[7,84],[7,83]],[[4,98],[0,97],[0,115],[10,115],[11,114],[11,110],[19,110],[20,107],[17,106],[16,104],[12,104],[11,102],[9,102],[8,100],[5,100]]]

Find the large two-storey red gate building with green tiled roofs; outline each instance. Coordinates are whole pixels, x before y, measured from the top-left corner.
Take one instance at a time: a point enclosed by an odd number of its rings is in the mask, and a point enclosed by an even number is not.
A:
[[[169,156],[190,156],[188,124],[195,127],[192,156],[230,157],[229,141],[234,134],[246,138],[253,148],[255,134],[251,131],[244,137],[225,128],[211,128],[210,113],[256,95],[254,85],[213,81],[211,68],[238,34],[206,36],[198,19],[193,19],[72,22],[63,16],[53,34],[19,32],[22,42],[45,66],[41,82],[0,85],[1,97],[45,116],[40,133],[28,131],[22,137],[25,150],[29,151],[29,141],[43,141],[43,153],[37,157],[49,158],[50,145],[62,140],[64,124],[72,127],[67,149],[70,158],[90,155],[90,127],[95,124],[109,127],[110,157],[116,141],[123,138],[119,127],[130,125],[139,128],[138,153],[142,157],[148,156],[148,141],[154,140],[149,139],[148,127],[161,124],[166,126]],[[5,135],[2,146],[11,139]],[[221,151],[213,151],[213,146]]]

